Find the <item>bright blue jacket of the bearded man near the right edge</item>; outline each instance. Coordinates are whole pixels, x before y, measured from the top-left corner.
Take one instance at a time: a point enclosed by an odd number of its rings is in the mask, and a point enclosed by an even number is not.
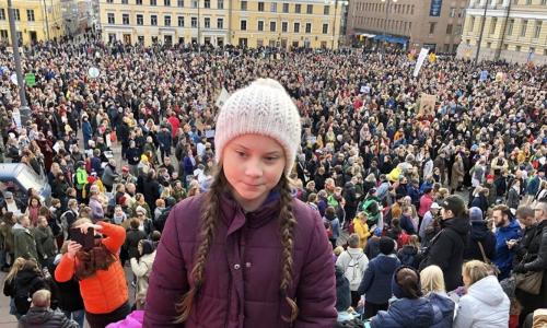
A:
[[[507,242],[521,237],[521,226],[516,220],[511,220],[508,226],[496,230],[496,256],[493,263],[500,269],[498,279],[501,281],[509,277],[513,265],[514,251],[510,250]]]

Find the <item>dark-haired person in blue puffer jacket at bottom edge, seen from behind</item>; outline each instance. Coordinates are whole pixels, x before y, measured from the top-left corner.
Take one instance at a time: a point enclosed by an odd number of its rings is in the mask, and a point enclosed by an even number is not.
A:
[[[439,307],[423,297],[420,274],[416,269],[401,266],[395,270],[392,291],[396,301],[387,311],[380,311],[371,319],[371,327],[438,327],[444,320]]]

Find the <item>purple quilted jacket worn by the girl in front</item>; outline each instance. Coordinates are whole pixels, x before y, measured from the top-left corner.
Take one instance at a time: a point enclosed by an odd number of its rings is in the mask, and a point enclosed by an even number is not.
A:
[[[279,291],[281,243],[277,221],[279,198],[244,214],[228,196],[209,250],[203,285],[190,316],[178,327],[282,328],[290,308]],[[150,277],[143,327],[177,327],[175,304],[188,291],[198,247],[202,195],[179,202],[170,213]],[[331,328],[337,313],[331,248],[317,213],[294,199],[293,286],[295,328]]]

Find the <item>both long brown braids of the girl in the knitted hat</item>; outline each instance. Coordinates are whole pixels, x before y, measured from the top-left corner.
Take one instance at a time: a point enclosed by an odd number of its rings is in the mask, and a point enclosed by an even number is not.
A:
[[[220,215],[220,195],[225,191],[228,186],[228,180],[224,176],[222,167],[216,169],[216,172],[217,174],[214,175],[210,189],[205,194],[205,199],[202,200],[200,216],[201,224],[199,232],[200,244],[198,250],[196,251],[194,267],[190,272],[194,283],[190,283],[189,291],[183,295],[183,298],[176,305],[177,312],[181,313],[175,321],[176,324],[184,323],[188,319],[194,305],[194,300],[205,281],[203,272],[207,256],[214,239],[217,223]],[[279,229],[282,246],[281,281],[279,291],[281,298],[284,300],[291,308],[290,317],[281,316],[281,318],[288,323],[292,323],[299,315],[296,302],[288,295],[288,291],[292,284],[292,253],[294,248],[293,231],[296,225],[296,219],[294,218],[291,208],[292,196],[289,179],[284,175],[281,176],[277,188],[280,192]]]

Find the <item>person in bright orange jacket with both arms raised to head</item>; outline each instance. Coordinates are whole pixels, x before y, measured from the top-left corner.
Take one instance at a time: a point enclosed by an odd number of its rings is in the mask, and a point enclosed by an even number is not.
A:
[[[92,227],[101,233],[91,249],[70,241],[68,250],[55,269],[55,280],[66,282],[74,276],[79,279],[80,292],[85,307],[85,319],[90,327],[105,327],[125,318],[129,312],[126,277],[118,254],[126,238],[126,231],[118,225],[79,219],[72,227],[86,233]],[[108,300],[108,302],[105,302]]]

